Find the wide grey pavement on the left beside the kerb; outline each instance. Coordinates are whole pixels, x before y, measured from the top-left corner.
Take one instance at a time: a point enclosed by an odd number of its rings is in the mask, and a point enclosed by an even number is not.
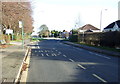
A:
[[[23,49],[21,42],[11,42],[12,46],[1,49],[2,58],[2,82],[12,83],[15,81],[26,48]]]

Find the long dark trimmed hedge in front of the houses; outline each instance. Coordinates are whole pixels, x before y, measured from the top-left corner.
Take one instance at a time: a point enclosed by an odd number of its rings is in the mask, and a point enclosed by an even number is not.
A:
[[[120,47],[120,32],[81,33],[78,41],[96,46]]]

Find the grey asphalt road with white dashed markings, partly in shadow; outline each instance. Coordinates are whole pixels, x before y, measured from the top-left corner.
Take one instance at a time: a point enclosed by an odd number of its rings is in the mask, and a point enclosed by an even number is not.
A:
[[[44,40],[31,46],[27,82],[118,82],[117,57]]]

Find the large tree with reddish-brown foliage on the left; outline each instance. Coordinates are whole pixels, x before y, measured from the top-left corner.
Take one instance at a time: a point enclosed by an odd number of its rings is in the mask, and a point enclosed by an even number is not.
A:
[[[2,25],[4,28],[14,30],[14,33],[20,33],[18,22],[24,22],[24,32],[31,33],[33,30],[33,18],[30,2],[2,2]]]

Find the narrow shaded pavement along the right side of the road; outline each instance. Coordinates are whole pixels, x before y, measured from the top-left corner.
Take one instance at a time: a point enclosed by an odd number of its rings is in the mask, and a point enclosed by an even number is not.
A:
[[[65,44],[72,45],[72,46],[79,47],[79,48],[83,48],[83,49],[86,49],[86,50],[89,50],[89,51],[93,51],[93,52],[97,52],[97,53],[101,53],[101,54],[106,54],[106,55],[110,55],[110,56],[120,57],[119,52],[103,50],[103,49],[90,47],[90,46],[86,46],[86,45],[80,45],[80,44],[76,44],[76,43],[69,42],[69,41],[62,41],[62,42],[65,43]]]

